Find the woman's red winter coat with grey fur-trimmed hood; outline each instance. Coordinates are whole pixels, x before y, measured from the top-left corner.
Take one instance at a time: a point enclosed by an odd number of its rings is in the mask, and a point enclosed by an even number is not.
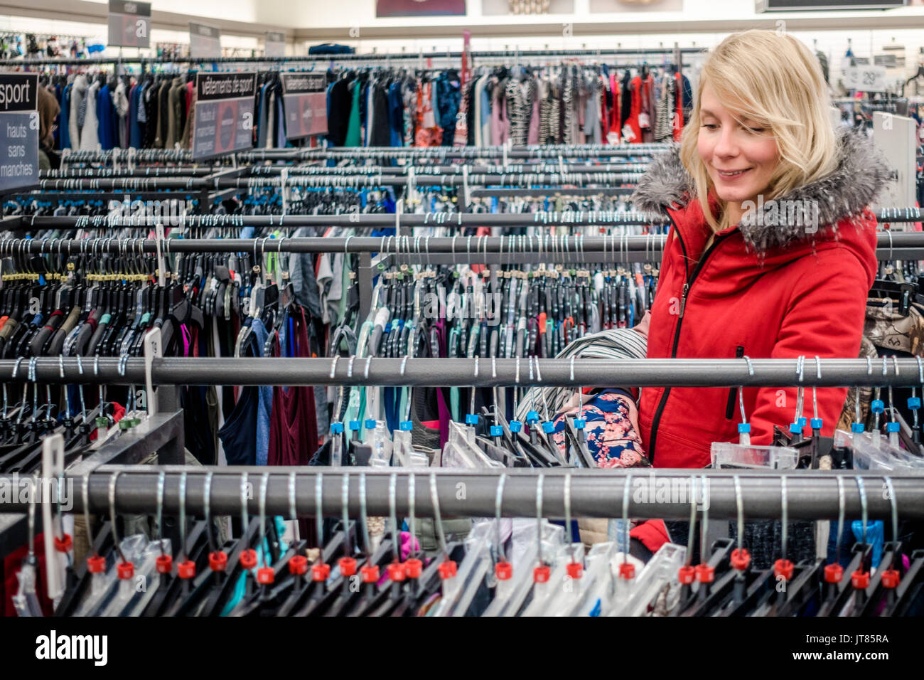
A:
[[[779,226],[767,204],[754,224],[716,234],[707,253],[710,227],[699,201],[689,200],[692,182],[676,150],[652,163],[633,200],[642,211],[666,213],[672,228],[651,307],[648,357],[804,354],[806,373],[814,369],[816,355],[857,357],[877,268],[876,219],[867,206],[887,179],[888,166],[871,142],[852,131],[839,133],[838,149],[840,165],[833,174],[780,199],[815,202],[816,232],[793,223]],[[753,444],[770,444],[774,425],[788,431],[796,391],[744,389]],[[833,434],[846,391],[818,389],[822,435]],[[810,388],[803,414],[812,417]],[[737,441],[740,420],[736,389],[641,390],[639,427],[655,467],[709,465],[711,442]]]

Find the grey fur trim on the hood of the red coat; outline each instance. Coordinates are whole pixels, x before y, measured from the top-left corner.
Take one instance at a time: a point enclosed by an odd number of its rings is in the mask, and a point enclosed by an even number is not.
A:
[[[856,218],[876,200],[893,175],[879,148],[865,133],[842,127],[837,130],[837,149],[839,162],[831,174],[748,211],[738,227],[749,249],[765,253],[794,241],[814,240],[804,224],[781,224],[780,213],[771,214],[783,202],[811,206],[817,224],[836,232],[839,222]],[[680,162],[680,145],[674,143],[652,161],[632,202],[642,213],[668,216],[668,209],[687,205],[694,195],[693,179]]]

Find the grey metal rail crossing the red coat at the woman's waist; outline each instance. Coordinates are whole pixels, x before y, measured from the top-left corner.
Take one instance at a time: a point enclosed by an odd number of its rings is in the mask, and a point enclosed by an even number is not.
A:
[[[145,384],[145,359],[33,357],[0,361],[0,381]],[[31,376],[31,377],[30,377]],[[387,385],[500,387],[921,387],[913,358],[865,359],[310,359],[164,357],[152,359],[152,385]]]

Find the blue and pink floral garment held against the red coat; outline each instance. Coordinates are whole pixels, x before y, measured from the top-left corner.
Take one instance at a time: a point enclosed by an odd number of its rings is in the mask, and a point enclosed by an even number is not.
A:
[[[641,437],[633,426],[633,403],[625,392],[604,389],[584,404],[587,420],[587,448],[599,467],[650,467],[642,450]],[[577,414],[577,407],[558,414],[552,439],[565,455],[565,416]]]

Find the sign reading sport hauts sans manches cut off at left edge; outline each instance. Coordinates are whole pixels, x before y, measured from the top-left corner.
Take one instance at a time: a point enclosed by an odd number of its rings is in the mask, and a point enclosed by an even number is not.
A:
[[[39,76],[0,74],[0,192],[39,183]]]

